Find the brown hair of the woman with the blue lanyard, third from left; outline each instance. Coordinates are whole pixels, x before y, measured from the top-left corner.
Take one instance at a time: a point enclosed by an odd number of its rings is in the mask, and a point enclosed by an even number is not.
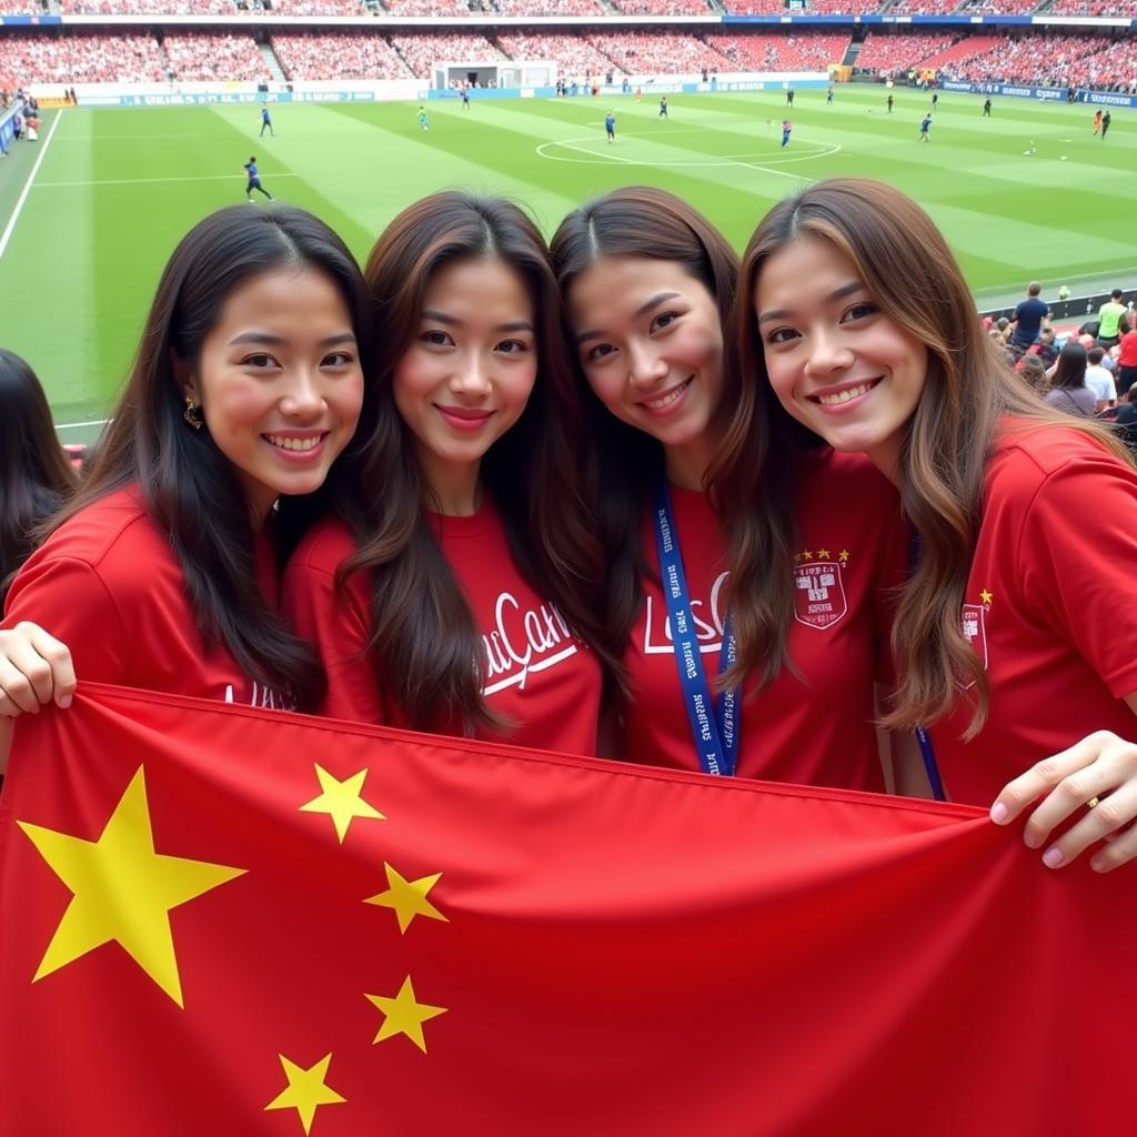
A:
[[[705,217],[665,190],[629,185],[574,209],[549,244],[563,296],[576,277],[604,257],[670,260],[714,298],[725,329],[735,302],[738,255]],[[664,476],[663,447],[620,422],[592,393],[578,363],[576,404],[583,408],[589,447],[582,466],[589,499],[608,557],[607,636],[623,648],[644,598],[641,581],[653,570],[644,556],[640,526]],[[723,399],[719,417],[732,410]]]

